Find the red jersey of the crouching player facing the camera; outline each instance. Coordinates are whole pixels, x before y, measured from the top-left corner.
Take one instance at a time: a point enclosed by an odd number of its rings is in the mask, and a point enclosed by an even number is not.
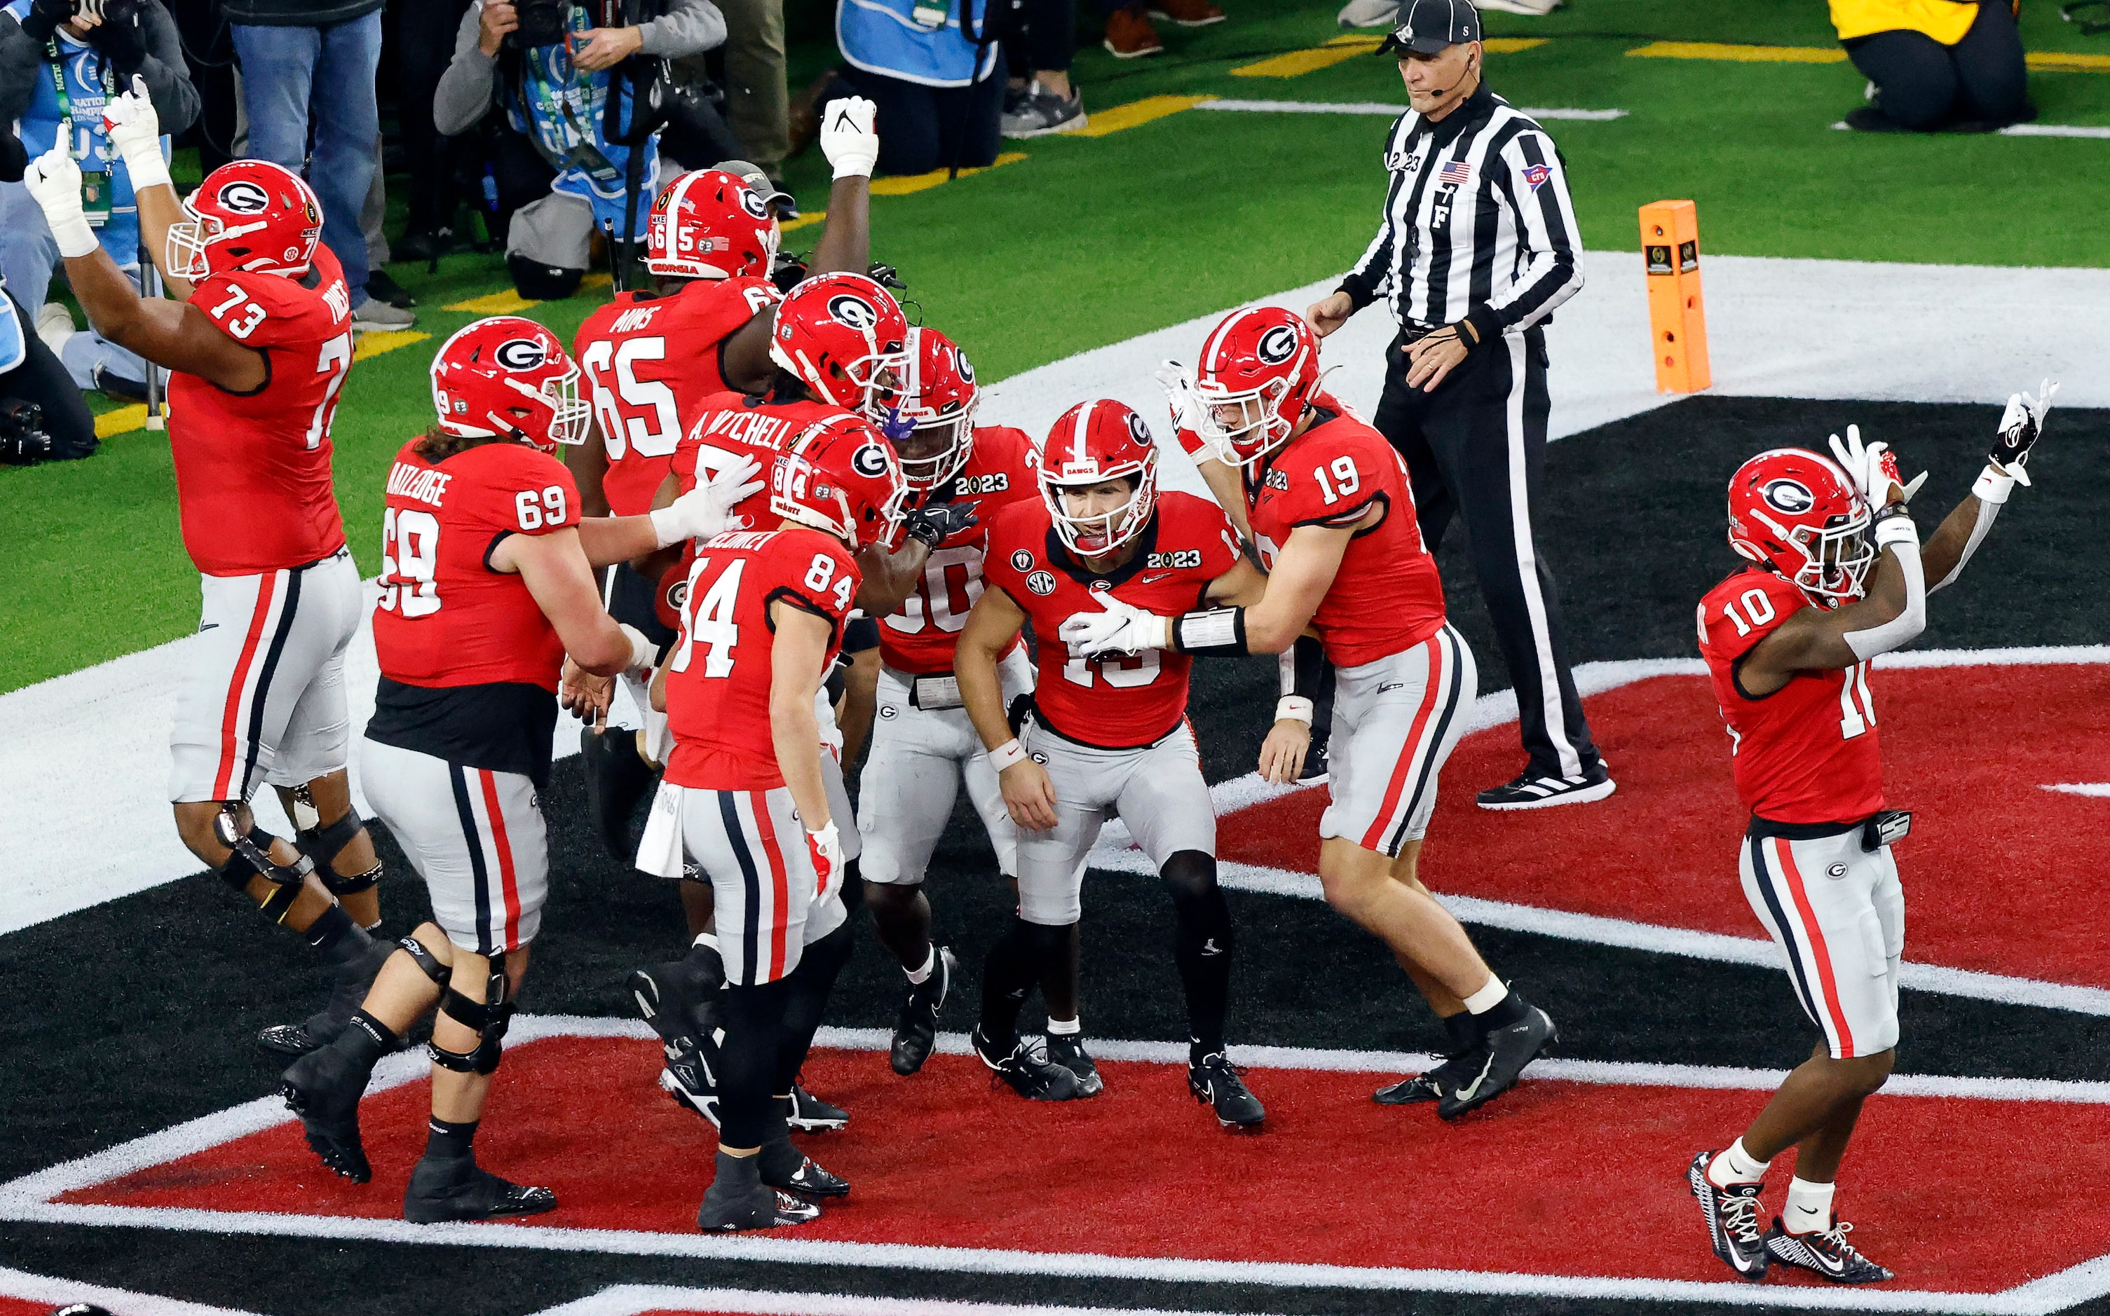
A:
[[[1158,614],[1186,612],[1236,561],[1239,531],[1220,506],[1192,494],[1158,494],[1150,525],[1135,540],[1135,557],[1104,576],[1063,548],[1038,498],[998,512],[983,572],[1034,624],[1040,662],[1036,719],[1097,749],[1163,740],[1186,717],[1194,660],[1158,650],[1133,658],[1078,658],[1061,641],[1061,624],[1078,612],[1101,612],[1097,597],[1108,593]]]

